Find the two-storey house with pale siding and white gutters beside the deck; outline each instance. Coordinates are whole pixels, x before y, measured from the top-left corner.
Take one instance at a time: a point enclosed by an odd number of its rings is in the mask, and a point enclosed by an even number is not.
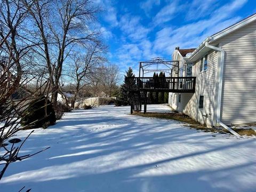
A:
[[[172,108],[207,126],[256,122],[256,14],[172,57],[196,77],[195,93],[169,94]]]

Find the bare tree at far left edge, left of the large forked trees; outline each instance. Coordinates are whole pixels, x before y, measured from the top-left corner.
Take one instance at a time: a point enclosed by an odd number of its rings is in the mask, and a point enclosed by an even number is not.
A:
[[[31,47],[35,46],[35,43],[31,44],[22,37],[23,21],[33,4],[34,1],[25,3],[17,0],[4,0],[0,3],[0,37],[2,38],[0,51],[2,57],[4,55],[8,58],[11,68],[15,70],[16,78],[13,79],[13,85],[17,87],[23,73],[22,59],[28,55]],[[3,68],[3,63],[1,65]]]

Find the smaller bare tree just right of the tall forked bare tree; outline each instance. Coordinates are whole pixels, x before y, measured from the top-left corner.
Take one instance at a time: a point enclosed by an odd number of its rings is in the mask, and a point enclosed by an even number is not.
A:
[[[69,63],[69,73],[68,75],[74,82],[74,97],[71,100],[71,107],[75,107],[75,101],[77,100],[79,92],[84,89],[86,84],[86,75],[93,73],[94,69],[98,67],[101,63],[107,61],[103,56],[106,53],[106,46],[101,43],[90,43],[86,48],[86,53],[81,54],[75,52],[71,56],[71,61]],[[71,69],[71,73],[70,73]]]

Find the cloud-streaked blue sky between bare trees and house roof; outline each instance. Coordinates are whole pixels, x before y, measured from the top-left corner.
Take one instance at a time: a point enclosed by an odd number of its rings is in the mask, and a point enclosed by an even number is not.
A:
[[[122,73],[138,61],[171,59],[176,46],[196,48],[207,36],[256,12],[255,0],[97,0],[108,59]]]

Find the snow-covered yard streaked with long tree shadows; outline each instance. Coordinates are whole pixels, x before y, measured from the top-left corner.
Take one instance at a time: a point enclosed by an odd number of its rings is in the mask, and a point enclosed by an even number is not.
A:
[[[255,139],[198,132],[129,111],[76,110],[46,130],[37,129],[22,153],[51,148],[11,164],[0,191],[23,186],[33,191],[256,190]]]

